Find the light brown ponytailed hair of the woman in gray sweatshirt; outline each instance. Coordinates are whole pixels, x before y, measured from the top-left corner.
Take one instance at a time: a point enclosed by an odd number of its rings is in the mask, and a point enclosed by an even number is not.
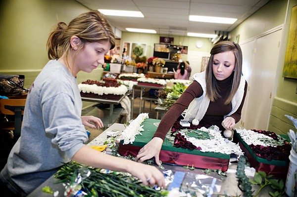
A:
[[[74,18],[68,26],[64,22],[59,22],[54,27],[47,42],[49,59],[57,59],[65,54],[67,64],[65,66],[69,68],[72,36],[77,36],[82,41],[76,54],[84,48],[86,42],[109,41],[110,49],[115,46],[115,38],[109,22],[99,11],[91,10]]]

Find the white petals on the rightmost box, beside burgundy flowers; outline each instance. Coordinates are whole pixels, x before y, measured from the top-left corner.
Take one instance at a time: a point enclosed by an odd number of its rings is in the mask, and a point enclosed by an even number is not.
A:
[[[264,135],[262,133],[257,133],[252,130],[247,129],[236,129],[236,132],[240,134],[241,138],[247,143],[247,145],[260,145],[260,146],[271,146],[270,144],[264,143],[260,139],[267,138],[270,141],[274,141],[273,138]]]

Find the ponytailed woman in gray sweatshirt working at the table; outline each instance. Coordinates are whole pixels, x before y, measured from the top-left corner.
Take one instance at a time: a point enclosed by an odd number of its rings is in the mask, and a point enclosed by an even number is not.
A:
[[[126,171],[145,185],[164,187],[164,176],[156,167],[103,154],[84,144],[88,141],[84,125],[99,128],[103,124],[93,116],[81,117],[76,76],[103,65],[104,54],[114,45],[112,28],[99,11],[83,13],[69,25],[60,22],[51,32],[50,60],[30,87],[21,136],[0,173],[0,182],[12,196],[27,196],[70,160]]]

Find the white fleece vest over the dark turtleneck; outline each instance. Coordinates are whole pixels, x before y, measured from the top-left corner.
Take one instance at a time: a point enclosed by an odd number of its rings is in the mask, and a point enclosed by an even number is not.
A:
[[[203,94],[200,97],[194,99],[190,103],[190,105],[188,107],[188,111],[185,115],[185,120],[192,121],[192,124],[198,125],[199,121],[204,117],[204,115],[208,109],[210,100],[209,100],[208,96],[206,96],[205,71],[195,74],[193,76],[193,79],[196,80],[201,85]],[[241,77],[238,90],[236,91],[236,93],[231,101],[232,110],[228,115],[224,116],[224,119],[227,116],[234,114],[238,110],[240,104],[242,103],[243,97],[244,97],[245,85],[246,85],[246,80],[244,79],[244,77]]]

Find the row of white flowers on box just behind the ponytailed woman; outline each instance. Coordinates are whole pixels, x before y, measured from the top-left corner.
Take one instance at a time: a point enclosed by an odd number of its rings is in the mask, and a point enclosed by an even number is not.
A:
[[[98,95],[103,95],[103,94],[123,95],[123,94],[126,94],[126,92],[128,91],[128,88],[125,85],[120,85],[118,87],[102,87],[96,84],[89,85],[84,83],[78,84],[78,89],[79,91],[84,93],[94,93]]]

